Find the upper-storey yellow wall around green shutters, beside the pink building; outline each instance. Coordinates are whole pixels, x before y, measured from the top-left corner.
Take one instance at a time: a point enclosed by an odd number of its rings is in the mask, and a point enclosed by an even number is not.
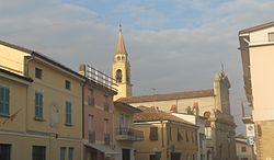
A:
[[[43,78],[35,78],[35,67],[43,70]],[[50,66],[33,60],[30,64],[30,77],[34,79],[33,84],[28,88],[28,112],[27,129],[39,130],[45,133],[56,133],[65,137],[81,138],[82,123],[82,99],[80,80],[65,75],[61,71],[53,69]],[[69,80],[71,89],[65,89],[65,81]],[[43,93],[43,122],[34,119],[35,113],[35,92]],[[72,104],[72,126],[66,126],[66,101]],[[58,125],[50,127],[50,108],[55,104],[59,108]]]

